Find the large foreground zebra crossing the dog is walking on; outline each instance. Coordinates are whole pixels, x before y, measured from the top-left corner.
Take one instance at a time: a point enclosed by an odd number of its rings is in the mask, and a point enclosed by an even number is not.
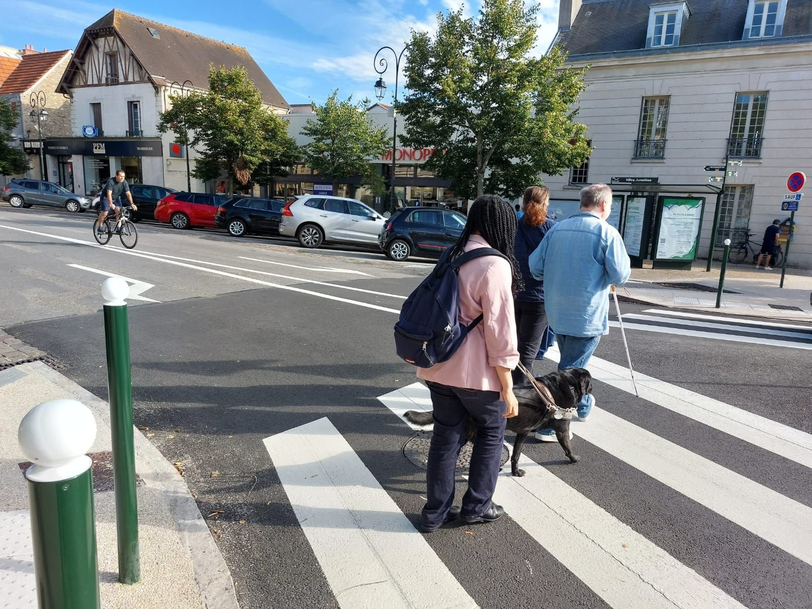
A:
[[[557,359],[555,348],[550,356]],[[599,358],[593,358],[590,369],[598,387],[596,395],[605,394],[605,388],[615,397],[627,395],[633,400],[628,371]],[[771,459],[764,460],[765,467],[784,460],[800,465],[805,475],[802,486],[812,488],[808,471],[812,469],[812,435],[646,375],[640,375],[637,385],[641,393],[637,401],[646,408],[658,408],[668,417],[701,421],[709,433],[722,432],[730,443],[751,447],[754,458],[762,451],[771,454]],[[405,411],[431,409],[429,391],[420,382],[378,400],[404,425],[410,425],[402,417]],[[751,479],[729,464],[716,463],[627,421],[608,406],[594,408],[590,422],[573,423],[572,431],[581,447],[588,446],[596,455],[603,454],[649,481],[644,488],[650,487],[650,493],[665,490],[672,499],[663,502],[662,509],[673,509],[671,517],[676,520],[687,514],[689,522],[685,529],[676,526],[677,539],[643,532],[645,527],[639,522],[627,521],[622,510],[607,508],[585,490],[588,478],[598,475],[598,465],[604,471],[605,464],[586,460],[577,469],[559,470],[555,462],[527,454],[544,447],[525,445],[520,457],[525,477],[500,475],[495,501],[504,506],[512,526],[598,597],[595,607],[810,607],[798,600],[812,598],[809,495],[806,503],[787,496],[771,487],[769,476]],[[459,572],[455,576],[438,555],[432,542],[435,534],[417,532],[413,519],[393,501],[391,485],[378,482],[328,417],[266,438],[264,443],[338,606],[495,606],[477,604],[476,595],[460,582]],[[562,471],[572,475],[562,475]],[[628,495],[624,500],[635,503],[641,498]],[[707,521],[692,519],[694,513],[705,514]],[[663,522],[663,529],[669,527],[670,523]],[[746,574],[749,583],[741,584],[749,586],[749,592],[737,589],[739,573],[719,572],[718,567],[708,566],[706,560],[686,550],[714,538],[716,533],[706,533],[707,529],[719,529],[719,536],[728,544],[725,549],[709,548],[711,555],[741,552],[732,562],[753,568]],[[741,535],[742,541],[730,541],[734,534]],[[782,567],[782,562],[787,566]],[[775,583],[774,574],[767,572],[770,569],[783,569],[786,580]],[[770,583],[765,585],[761,578]],[[753,601],[753,589],[784,584],[794,592],[782,597],[773,590]],[[798,590],[799,586],[806,590]],[[529,590],[528,595],[532,594]],[[553,609],[574,606],[564,594]]]

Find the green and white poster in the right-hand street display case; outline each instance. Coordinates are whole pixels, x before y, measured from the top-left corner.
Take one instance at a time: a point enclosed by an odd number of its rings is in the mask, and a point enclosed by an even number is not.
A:
[[[657,240],[658,260],[693,260],[697,257],[704,199],[661,197]]]

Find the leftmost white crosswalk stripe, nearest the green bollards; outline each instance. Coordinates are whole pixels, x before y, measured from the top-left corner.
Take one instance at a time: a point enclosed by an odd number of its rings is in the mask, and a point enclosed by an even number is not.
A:
[[[342,609],[477,607],[329,419],[263,443]]]

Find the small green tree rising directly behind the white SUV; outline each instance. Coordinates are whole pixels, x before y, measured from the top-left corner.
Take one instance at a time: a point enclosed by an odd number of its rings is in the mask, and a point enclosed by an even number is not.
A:
[[[361,175],[361,184],[369,186],[376,195],[386,192],[381,175],[373,171],[370,158],[381,156],[389,148],[386,128],[375,128],[366,108],[369,101],[352,103],[352,95],[339,100],[335,89],[323,106],[313,104],[315,119],[302,127],[302,135],[311,138],[304,145],[304,159],[314,171],[333,178]]]

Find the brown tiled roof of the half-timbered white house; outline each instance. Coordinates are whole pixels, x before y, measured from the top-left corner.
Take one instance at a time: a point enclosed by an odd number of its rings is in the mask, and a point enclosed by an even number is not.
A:
[[[84,30],[93,34],[98,30],[114,28],[130,47],[141,66],[158,84],[183,83],[190,80],[193,86],[204,89],[209,83],[209,66],[244,66],[266,104],[287,108],[285,98],[274,87],[261,67],[248,51],[231,45],[159,24],[138,15],[114,9]],[[158,36],[149,32],[152,28]],[[80,44],[81,47],[81,44]],[[77,53],[79,48],[77,48]]]

